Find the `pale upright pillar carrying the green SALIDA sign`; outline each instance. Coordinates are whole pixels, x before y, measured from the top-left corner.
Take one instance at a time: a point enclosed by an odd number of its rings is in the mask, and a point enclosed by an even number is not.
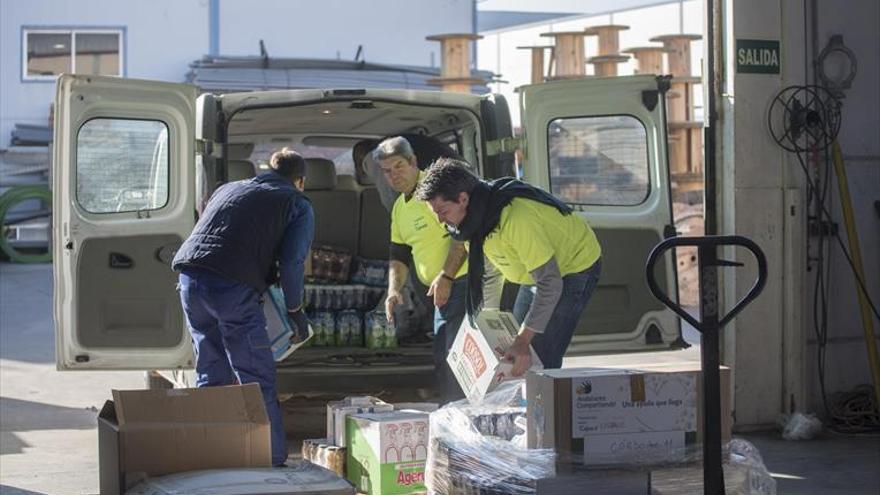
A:
[[[760,428],[775,423],[783,407],[783,328],[785,307],[783,241],[785,218],[782,152],[766,130],[766,110],[782,88],[780,75],[738,74],[737,38],[779,40],[782,38],[782,3],[787,0],[738,0],[719,12],[726,40],[724,53],[716,53],[718,76],[726,78],[717,108],[719,115],[716,154],[718,206],[721,234],[737,234],[755,241],[767,257],[767,285],[759,298],[727,325],[722,334],[722,361],[733,367],[734,415],[737,429]],[[791,2],[795,3],[795,2]],[[802,2],[801,2],[802,3]],[[802,22],[801,14],[786,12]],[[792,42],[796,40],[793,39]],[[796,42],[803,43],[800,38]],[[711,49],[711,47],[706,47]],[[704,57],[705,59],[705,57]],[[794,62],[795,57],[789,57]],[[799,60],[803,60],[800,57]],[[706,110],[708,111],[708,109]],[[748,264],[723,273],[724,311],[742,298],[754,280],[754,263],[744,253],[730,251],[725,259]]]

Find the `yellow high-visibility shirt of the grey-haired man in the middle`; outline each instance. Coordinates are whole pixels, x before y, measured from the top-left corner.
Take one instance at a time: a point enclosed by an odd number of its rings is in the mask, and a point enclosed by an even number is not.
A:
[[[421,172],[419,181],[423,177],[424,172]],[[452,237],[427,202],[419,201],[415,196],[407,201],[405,195],[401,194],[391,210],[391,242],[412,248],[416,275],[423,284],[430,285],[443,270]],[[459,268],[455,278],[465,273],[467,261]]]

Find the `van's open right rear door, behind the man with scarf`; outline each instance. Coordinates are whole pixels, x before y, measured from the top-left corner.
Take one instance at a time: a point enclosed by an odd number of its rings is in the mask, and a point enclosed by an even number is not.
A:
[[[678,319],[654,299],[645,261],[672,224],[666,79],[589,78],[520,88],[524,179],[582,215],[602,245],[602,276],[569,354],[681,343]],[[667,256],[658,283],[677,294]]]

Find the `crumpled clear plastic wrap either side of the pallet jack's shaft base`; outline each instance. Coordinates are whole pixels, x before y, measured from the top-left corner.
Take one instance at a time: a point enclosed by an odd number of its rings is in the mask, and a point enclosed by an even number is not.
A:
[[[758,449],[735,438],[725,446],[724,485],[727,495],[776,495],[776,480],[770,476]],[[695,463],[682,468],[655,469],[651,472],[652,495],[703,493],[703,466]]]

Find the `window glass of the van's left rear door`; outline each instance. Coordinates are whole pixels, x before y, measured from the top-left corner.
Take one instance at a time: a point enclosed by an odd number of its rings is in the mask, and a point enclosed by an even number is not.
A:
[[[157,210],[168,203],[168,127],[92,119],[76,141],[76,199],[90,213]]]

